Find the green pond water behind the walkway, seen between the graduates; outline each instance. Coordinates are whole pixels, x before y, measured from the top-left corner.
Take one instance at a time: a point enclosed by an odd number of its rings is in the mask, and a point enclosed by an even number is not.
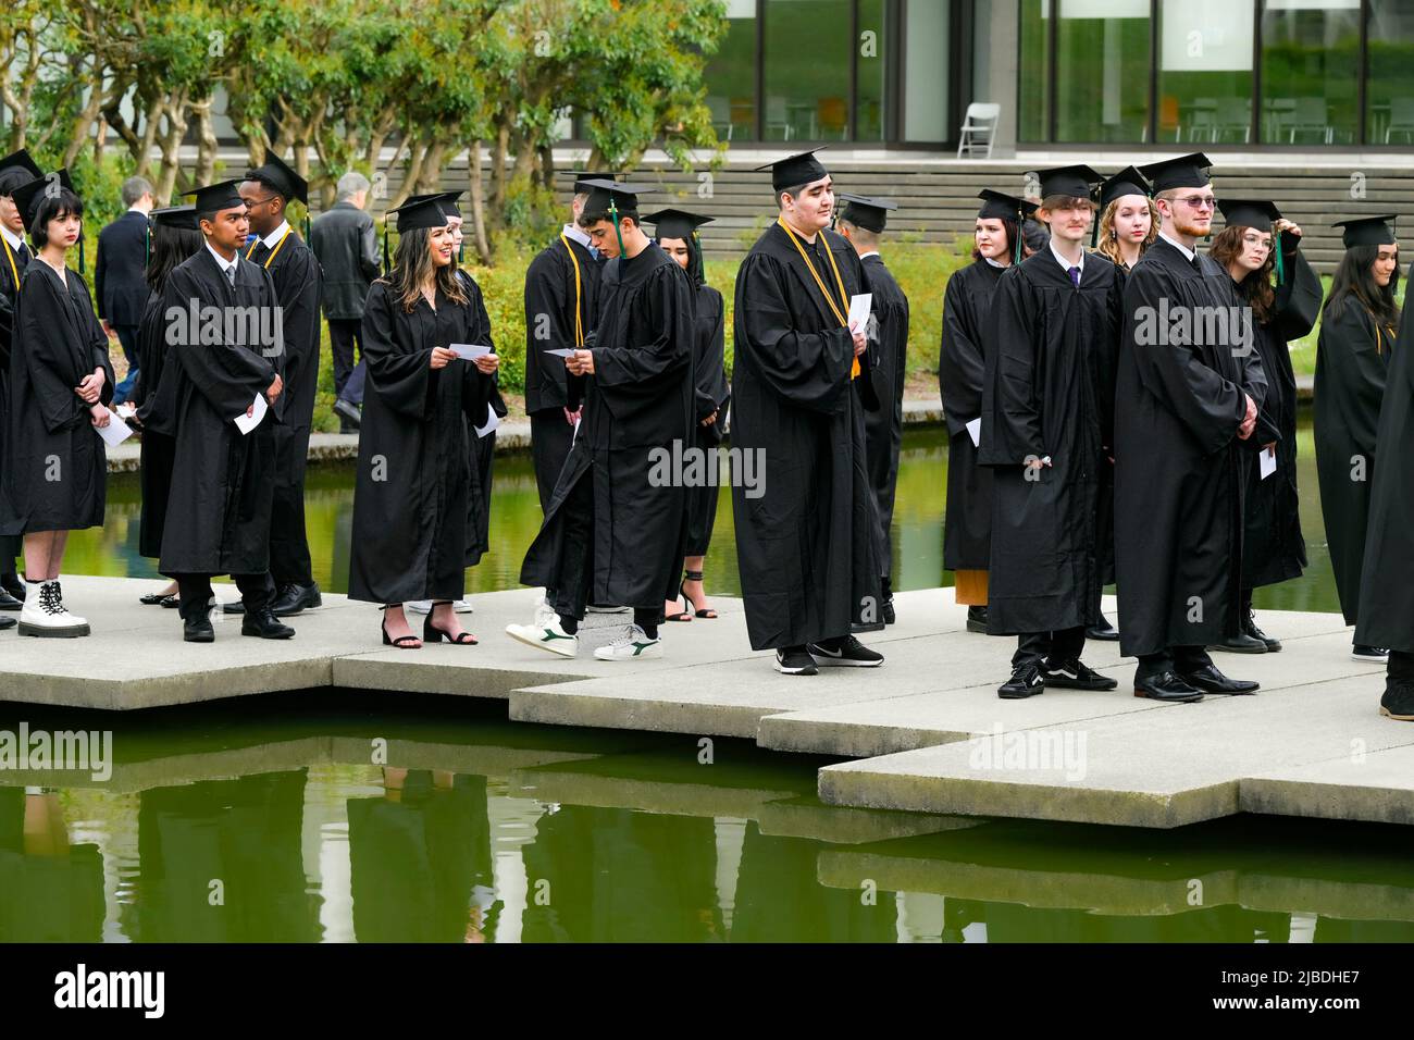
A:
[[[1295,580],[1257,590],[1260,610],[1338,611],[1331,557],[1325,546],[1316,497],[1311,423],[1297,433],[1299,446],[1301,526],[1311,567]],[[894,509],[895,589],[952,584],[943,573],[943,499],[947,487],[947,440],[943,427],[911,429],[899,454],[898,504]],[[157,577],[151,560],[137,553],[137,475],[112,477],[105,525],[69,536],[65,567],[75,574]],[[311,466],[305,483],[305,524],[314,577],[327,591],[348,590],[349,528],[354,515],[354,470],[344,464]],[[496,460],[492,497],[491,552],[467,572],[467,591],[519,589],[520,560],[540,526],[540,499],[527,454]],[[707,589],[737,596],[737,546],[731,495],[717,502],[717,524],[707,557]],[[1270,630],[1273,635],[1281,635]]]

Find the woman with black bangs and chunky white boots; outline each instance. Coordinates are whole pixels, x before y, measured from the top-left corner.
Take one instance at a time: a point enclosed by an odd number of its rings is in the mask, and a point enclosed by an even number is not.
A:
[[[59,566],[71,531],[103,525],[113,368],[88,284],[65,266],[83,202],[61,170],[16,188],[35,258],[24,270],[10,357],[0,533],[24,535],[21,635],[89,634],[64,606]]]

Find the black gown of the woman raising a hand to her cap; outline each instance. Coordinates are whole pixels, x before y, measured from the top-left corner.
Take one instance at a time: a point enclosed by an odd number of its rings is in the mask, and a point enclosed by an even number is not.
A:
[[[1257,351],[1267,375],[1267,400],[1247,450],[1247,512],[1243,533],[1243,589],[1301,577],[1307,542],[1301,536],[1297,494],[1297,376],[1287,344],[1307,335],[1321,313],[1321,276],[1298,252],[1299,239],[1282,232],[1285,279],[1277,286],[1275,310],[1256,328]],[[1277,441],[1277,471],[1261,478],[1260,449]]]

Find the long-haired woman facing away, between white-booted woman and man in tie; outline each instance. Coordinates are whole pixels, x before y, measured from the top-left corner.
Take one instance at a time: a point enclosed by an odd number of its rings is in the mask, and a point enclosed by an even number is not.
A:
[[[167,276],[202,246],[197,225],[197,207],[174,205],[151,212],[147,256],[147,306],[137,327],[137,382],[132,400],[137,405],[136,426],[143,432],[143,456],[139,480],[143,514],[139,524],[137,550],[148,559],[161,559],[163,526],[167,521],[167,497],[173,484],[173,460],[177,457],[175,402],[168,382],[163,396],[163,368],[167,361],[167,320],[163,314],[163,286]],[[177,607],[177,583],[150,596],[139,597],[147,606]]]

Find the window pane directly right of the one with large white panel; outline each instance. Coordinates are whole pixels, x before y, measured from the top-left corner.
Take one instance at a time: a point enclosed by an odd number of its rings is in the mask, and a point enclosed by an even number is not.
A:
[[[1355,144],[1360,0],[1267,0],[1261,11],[1261,140]]]

